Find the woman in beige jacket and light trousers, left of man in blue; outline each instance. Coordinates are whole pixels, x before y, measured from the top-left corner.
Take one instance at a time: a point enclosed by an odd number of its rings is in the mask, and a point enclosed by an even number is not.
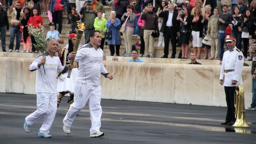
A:
[[[208,21],[207,35],[211,37],[211,58],[209,59],[219,59],[219,25],[217,24],[219,20],[219,10],[214,8],[213,15]]]

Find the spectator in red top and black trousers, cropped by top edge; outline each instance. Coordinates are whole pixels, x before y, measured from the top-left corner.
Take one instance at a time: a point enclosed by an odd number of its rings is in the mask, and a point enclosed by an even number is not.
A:
[[[63,7],[69,3],[69,0],[52,0],[50,4],[50,11],[52,12],[52,20],[55,25],[55,30],[57,29],[58,23],[58,31],[61,34],[62,30],[62,15],[63,15]]]

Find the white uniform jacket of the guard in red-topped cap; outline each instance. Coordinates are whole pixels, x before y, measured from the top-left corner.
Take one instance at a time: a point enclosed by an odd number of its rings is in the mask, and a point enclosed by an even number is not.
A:
[[[241,76],[243,71],[243,62],[243,53],[236,47],[232,50],[227,50],[224,52],[221,65],[221,74],[219,76],[220,80],[223,80],[224,76],[224,86],[237,86],[238,84],[243,85]],[[230,71],[225,72],[226,70]],[[236,85],[232,85],[232,80],[237,81]]]

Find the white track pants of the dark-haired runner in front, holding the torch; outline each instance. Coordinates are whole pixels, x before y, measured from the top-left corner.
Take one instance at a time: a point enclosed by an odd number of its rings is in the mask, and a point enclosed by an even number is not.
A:
[[[66,126],[71,126],[78,112],[80,112],[87,103],[90,110],[91,128],[90,133],[100,131],[100,118],[102,109],[101,101],[101,87],[100,85],[87,85],[85,83],[75,83],[74,103],[70,105],[69,112],[64,118]]]

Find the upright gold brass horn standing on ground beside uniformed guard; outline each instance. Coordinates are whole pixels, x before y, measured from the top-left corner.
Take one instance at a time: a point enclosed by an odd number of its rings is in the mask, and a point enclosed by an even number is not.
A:
[[[245,119],[245,96],[244,96],[244,89],[242,85],[236,86],[235,91],[235,99],[234,99],[234,105],[235,105],[235,116],[236,116],[236,122],[233,124],[233,126],[236,127],[249,127],[249,125],[246,122]]]

